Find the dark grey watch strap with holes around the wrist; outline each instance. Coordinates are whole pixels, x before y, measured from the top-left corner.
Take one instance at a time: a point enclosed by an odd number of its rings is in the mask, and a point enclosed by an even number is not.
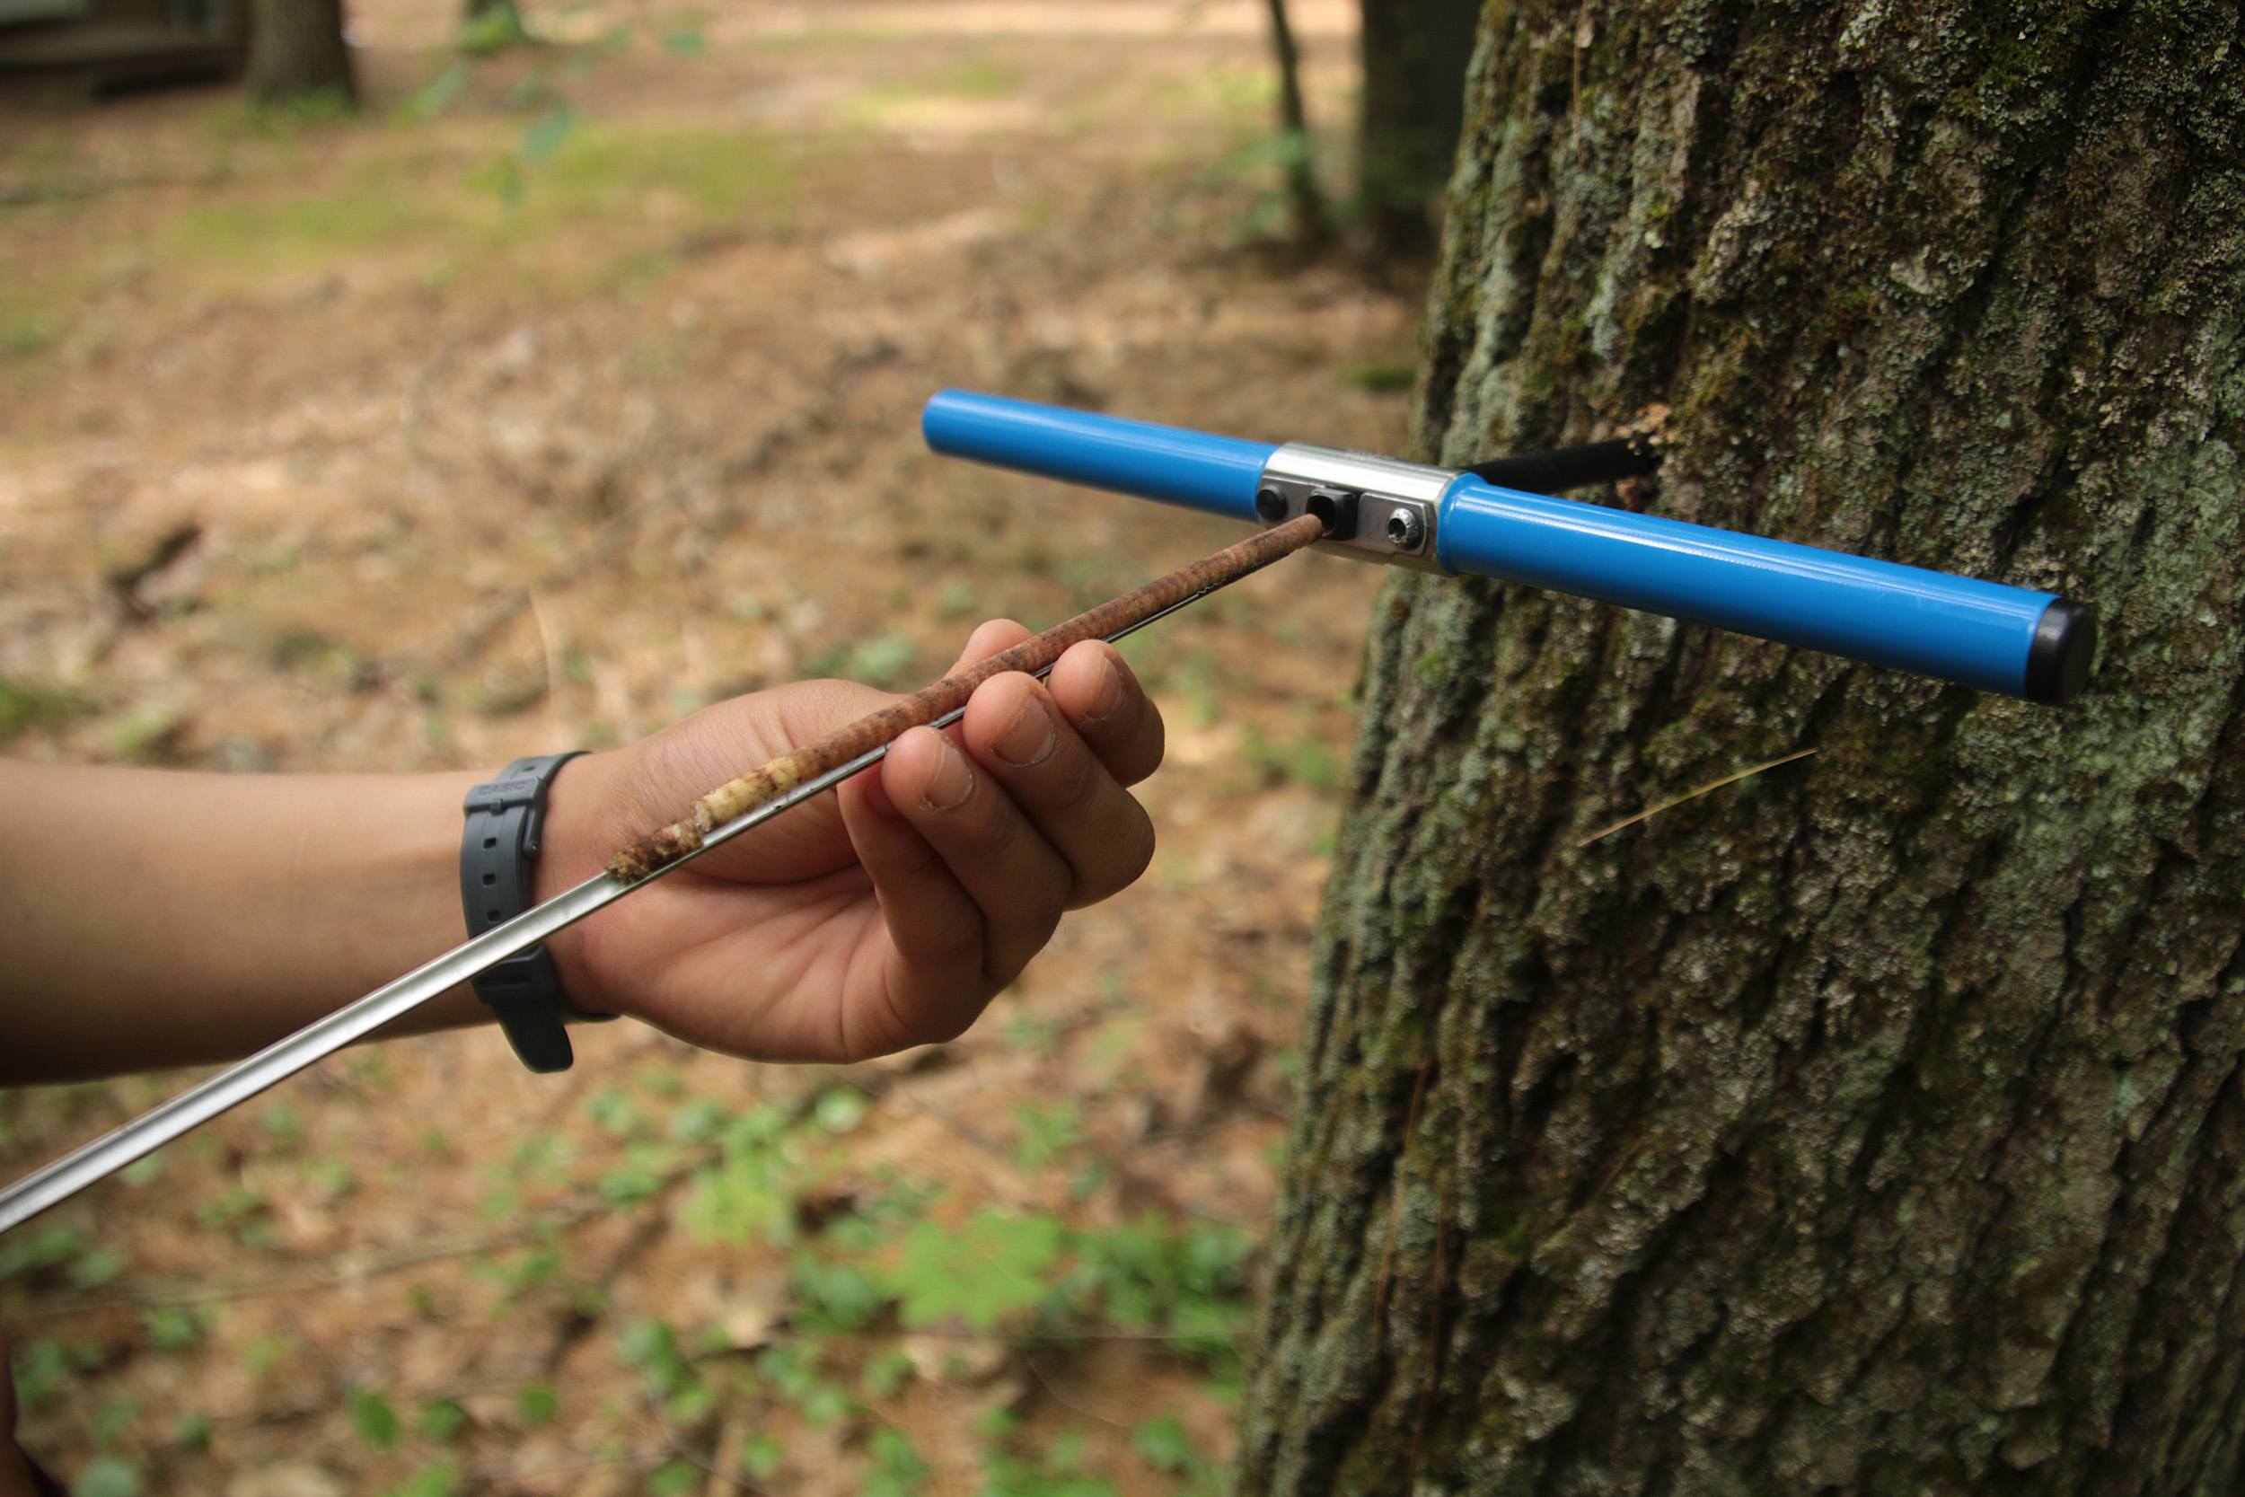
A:
[[[480,936],[530,909],[530,866],[546,830],[546,790],[555,772],[581,754],[516,759],[498,779],[467,792],[467,830],[460,835],[460,907],[467,934]],[[476,976],[476,997],[492,1005],[507,1044],[532,1071],[568,1071],[577,1053],[568,1019],[613,1019],[570,1005],[561,972],[543,945],[519,952]]]

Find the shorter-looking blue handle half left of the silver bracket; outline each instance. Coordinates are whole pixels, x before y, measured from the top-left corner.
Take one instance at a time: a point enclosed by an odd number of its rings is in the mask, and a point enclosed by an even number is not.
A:
[[[1208,435],[1116,415],[1039,406],[1004,395],[941,391],[920,413],[920,435],[952,458],[1039,478],[1114,489],[1165,505],[1255,521],[1255,489],[1271,442]]]

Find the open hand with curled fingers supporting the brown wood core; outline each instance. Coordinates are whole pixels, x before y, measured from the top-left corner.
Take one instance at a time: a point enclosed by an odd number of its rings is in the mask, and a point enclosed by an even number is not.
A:
[[[959,664],[1028,637],[983,624]],[[952,667],[959,669],[959,667]],[[590,878],[694,797],[894,700],[801,682],[709,707],[555,777],[537,896]],[[849,1062],[950,1039],[1064,909],[1129,884],[1154,828],[1125,790],[1163,725],[1122,655],[1069,649],[1046,685],[995,676],[837,795],[759,826],[555,936],[579,1008],[752,1059]]]

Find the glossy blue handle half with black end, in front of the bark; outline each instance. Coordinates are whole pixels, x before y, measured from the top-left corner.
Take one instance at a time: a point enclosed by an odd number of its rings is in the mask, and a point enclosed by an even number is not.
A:
[[[1497,489],[1473,476],[1444,494],[1435,543],[1448,572],[2059,700],[2029,682],[2036,635],[2050,633],[2045,619],[2061,604],[2052,593]]]

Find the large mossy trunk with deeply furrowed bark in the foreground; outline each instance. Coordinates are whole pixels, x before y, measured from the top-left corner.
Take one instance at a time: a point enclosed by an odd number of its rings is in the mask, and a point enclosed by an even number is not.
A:
[[[2241,1490],[2238,31],[1491,7],[1421,453],[1666,402],[1630,503],[2106,644],[2045,709],[1399,577],[1241,1493]]]

